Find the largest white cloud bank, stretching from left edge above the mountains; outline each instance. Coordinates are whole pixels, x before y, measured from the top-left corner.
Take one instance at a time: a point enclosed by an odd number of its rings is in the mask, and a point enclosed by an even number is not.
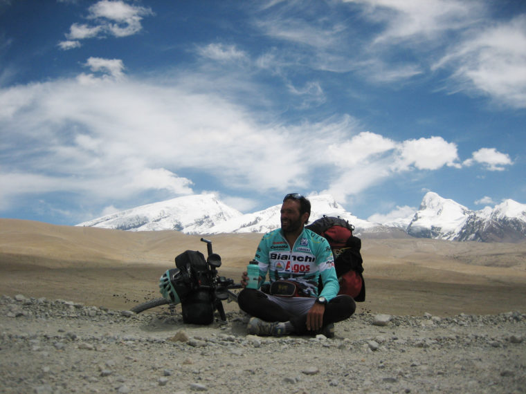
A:
[[[396,141],[361,131],[350,116],[266,120],[196,71],[136,80],[120,78],[120,59],[91,57],[86,66],[113,78],[82,74],[0,90],[0,130],[10,131],[3,143],[24,157],[1,171],[4,202],[69,191],[123,205],[145,191],[192,193],[203,174],[232,193],[325,187],[343,202],[402,172],[458,166],[456,145],[441,137]]]

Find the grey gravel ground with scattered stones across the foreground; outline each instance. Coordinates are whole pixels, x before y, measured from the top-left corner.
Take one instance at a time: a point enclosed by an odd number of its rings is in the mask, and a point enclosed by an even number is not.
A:
[[[232,308],[230,308],[232,309]],[[526,315],[359,312],[336,336],[246,335],[19,294],[0,298],[2,393],[525,393]]]

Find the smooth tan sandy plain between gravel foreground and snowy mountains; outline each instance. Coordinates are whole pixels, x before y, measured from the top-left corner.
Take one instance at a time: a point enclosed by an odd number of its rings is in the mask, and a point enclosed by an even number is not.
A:
[[[219,273],[238,281],[261,234],[206,236]],[[66,299],[126,310],[160,297],[158,278],[201,236],[124,232],[0,219],[0,294]],[[526,311],[526,243],[362,238],[372,313],[437,316]],[[229,304],[228,308],[235,308]]]

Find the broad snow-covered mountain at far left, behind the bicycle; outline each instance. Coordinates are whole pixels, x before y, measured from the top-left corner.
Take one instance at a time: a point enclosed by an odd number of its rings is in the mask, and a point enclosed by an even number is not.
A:
[[[207,234],[215,225],[239,216],[241,212],[221,203],[213,194],[200,194],[142,205],[78,226],[129,231],[174,229],[188,234]]]

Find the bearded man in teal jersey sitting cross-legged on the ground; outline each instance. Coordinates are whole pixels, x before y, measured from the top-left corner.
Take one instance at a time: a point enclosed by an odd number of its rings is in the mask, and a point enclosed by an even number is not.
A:
[[[251,315],[247,330],[253,335],[316,335],[334,337],[334,323],[356,310],[354,299],[337,295],[339,290],[334,257],[323,236],[305,229],[311,203],[300,194],[287,194],[281,207],[281,228],[264,234],[255,261],[260,270],[258,289],[244,289],[239,308]],[[270,286],[261,290],[266,274]],[[321,279],[322,290],[318,294]]]

